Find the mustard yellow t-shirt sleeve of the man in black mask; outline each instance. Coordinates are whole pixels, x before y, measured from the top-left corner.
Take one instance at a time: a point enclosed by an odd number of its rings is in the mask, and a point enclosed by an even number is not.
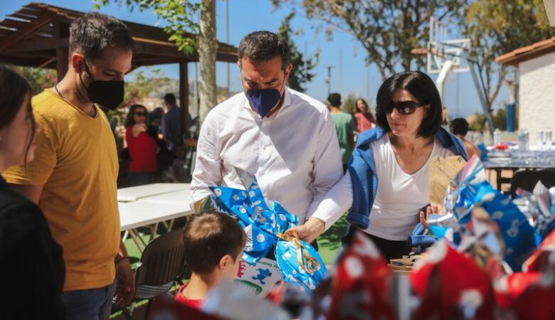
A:
[[[8,183],[43,186],[56,166],[56,137],[51,124],[41,114],[34,112],[35,121],[41,131],[35,135],[35,159],[26,166],[12,166],[4,173]]]

